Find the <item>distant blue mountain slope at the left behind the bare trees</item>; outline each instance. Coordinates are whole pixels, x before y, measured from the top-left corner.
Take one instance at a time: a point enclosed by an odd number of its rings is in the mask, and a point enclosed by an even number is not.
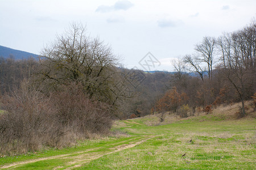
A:
[[[27,58],[30,58],[30,57],[34,57],[34,58],[38,57],[38,55],[36,55],[36,54],[23,52],[23,51],[20,51],[20,50],[7,48],[5,46],[0,45],[0,57],[8,58],[10,56],[13,56],[15,59],[27,59]]]

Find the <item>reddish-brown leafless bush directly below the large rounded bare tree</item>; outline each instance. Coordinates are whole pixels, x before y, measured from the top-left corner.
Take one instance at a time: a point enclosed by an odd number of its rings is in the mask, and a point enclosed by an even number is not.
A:
[[[52,96],[62,125],[73,127],[73,131],[85,137],[87,133],[106,133],[111,128],[109,105],[89,99],[81,85],[74,83],[62,89]]]

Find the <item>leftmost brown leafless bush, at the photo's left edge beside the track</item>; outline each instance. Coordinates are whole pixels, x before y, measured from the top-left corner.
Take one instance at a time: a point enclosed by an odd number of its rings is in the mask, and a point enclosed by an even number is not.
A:
[[[19,92],[5,95],[2,101],[6,111],[0,119],[2,154],[39,150],[51,138],[63,134],[52,115],[51,101],[39,92],[23,86]]]

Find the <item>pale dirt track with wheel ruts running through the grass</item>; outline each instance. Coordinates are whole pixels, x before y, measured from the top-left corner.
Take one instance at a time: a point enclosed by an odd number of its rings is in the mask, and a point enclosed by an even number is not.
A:
[[[17,163],[13,163],[13,164],[9,164],[9,165],[4,165],[3,167],[0,167],[0,169],[18,168],[21,165],[35,163],[35,162],[39,162],[42,160],[67,159],[67,158],[72,159],[73,161],[66,163],[66,165],[69,166],[66,169],[72,169],[72,168],[76,168],[76,167],[81,167],[82,164],[89,163],[90,161],[101,158],[102,156],[113,154],[115,152],[119,152],[119,151],[125,150],[127,148],[137,146],[137,145],[147,141],[148,139],[151,139],[151,138],[154,138],[157,136],[158,135],[151,136],[151,137],[145,137],[145,138],[141,139],[141,141],[131,142],[129,144],[124,144],[124,145],[119,145],[119,146],[115,146],[112,148],[108,148],[108,149],[106,149],[106,152],[103,152],[103,153],[97,152],[97,150],[101,148],[101,147],[97,147],[97,148],[92,148],[92,149],[88,149],[88,150],[81,151],[81,152],[72,152],[71,154],[56,155],[56,156],[50,156],[47,158],[32,159],[32,160],[28,160],[25,162],[17,162]],[[123,141],[123,142],[125,142],[125,141]],[[96,151],[96,152],[90,152],[90,151]],[[72,156],[72,155],[74,155],[74,156]],[[54,169],[58,169],[58,168],[63,168],[63,167],[56,167]]]

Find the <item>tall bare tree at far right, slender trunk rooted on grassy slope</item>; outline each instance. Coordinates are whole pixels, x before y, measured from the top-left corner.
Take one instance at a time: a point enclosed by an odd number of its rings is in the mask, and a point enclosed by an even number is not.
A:
[[[234,33],[225,33],[218,39],[222,56],[222,73],[238,93],[245,116],[245,100],[253,94],[255,84],[255,22]]]

